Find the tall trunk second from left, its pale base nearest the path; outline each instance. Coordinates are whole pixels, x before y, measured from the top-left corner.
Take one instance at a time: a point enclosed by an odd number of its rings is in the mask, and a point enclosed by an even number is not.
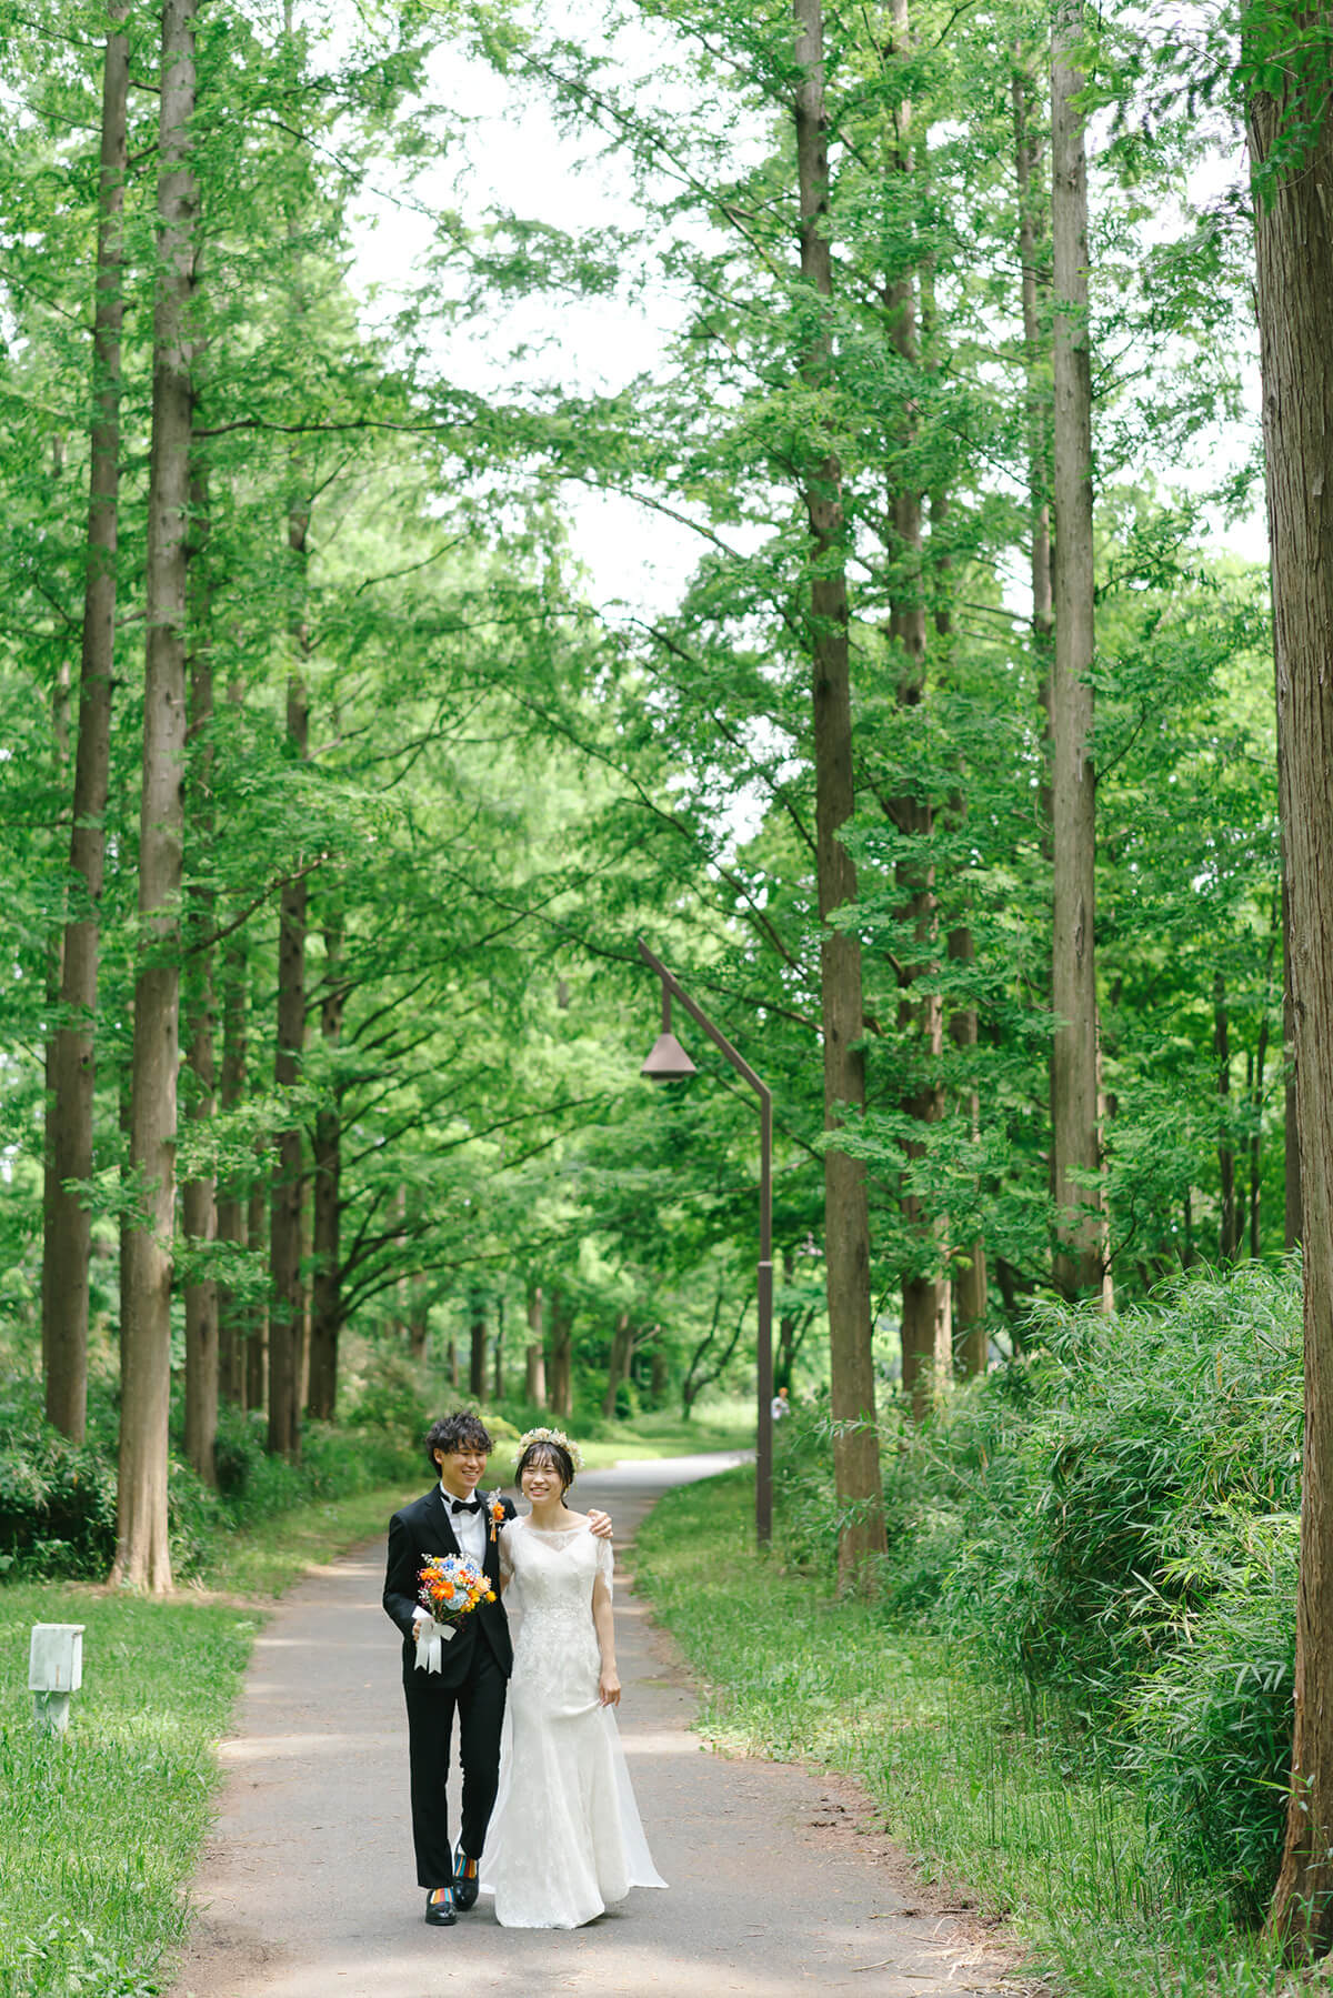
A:
[[[166,1540],[172,1391],[172,1221],[180,1051],[180,867],[186,763],[186,539],[190,515],[190,290],[198,192],[190,172],[194,6],[164,0],[158,100],[158,282],[148,470],[148,663],[140,801],[140,955],[134,983],[130,1169],[144,1199],[130,1231],[120,1327],[120,1485],[112,1578],[172,1580]]]

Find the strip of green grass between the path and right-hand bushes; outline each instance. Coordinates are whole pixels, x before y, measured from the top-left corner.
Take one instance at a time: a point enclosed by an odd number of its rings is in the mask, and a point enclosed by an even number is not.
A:
[[[737,1471],[669,1493],[636,1542],[638,1586],[703,1682],[709,1744],[857,1776],[923,1872],[969,1882],[1063,1992],[1295,1988],[1221,1896],[1153,1870],[1133,1788],[1061,1718],[1019,1714],[957,1646],[755,1554],[751,1520]]]

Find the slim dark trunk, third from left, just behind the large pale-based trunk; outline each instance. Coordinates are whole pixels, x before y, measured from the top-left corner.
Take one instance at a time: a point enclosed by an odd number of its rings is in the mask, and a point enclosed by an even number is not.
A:
[[[192,535],[190,553],[190,731],[196,737],[190,783],[190,837],[200,873],[212,875],[214,799],[212,799],[212,719],[214,665],[208,633],[208,585],[204,579],[204,549],[208,539],[208,484],[204,474],[190,482]],[[190,891],[190,1051],[194,1081],[188,1119],[212,1123],[214,1093],[214,947],[208,941],[216,925],[218,897],[212,887]],[[208,1249],[218,1237],[216,1181],[212,1175],[188,1179],[182,1195],[182,1227],[192,1249]],[[212,1275],[194,1275],[186,1283],[186,1457],[206,1485],[218,1483],[218,1285]]]

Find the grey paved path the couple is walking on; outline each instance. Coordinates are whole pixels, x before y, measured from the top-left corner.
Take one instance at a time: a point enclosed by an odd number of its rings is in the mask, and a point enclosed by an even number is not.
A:
[[[622,1465],[580,1479],[578,1498],[614,1514],[622,1550],[669,1485],[731,1461]],[[699,1748],[689,1682],[624,1588],[620,1724],[669,1892],[636,1888],[572,1932],[500,1928],[490,1900],[456,1928],[428,1928],[382,1578],[382,1544],[318,1568],[258,1638],[236,1734],[220,1750],[226,1788],[174,1998],[995,1990],[1003,1966],[985,1960],[973,1930],[927,1912],[901,1864],[885,1864],[849,1786]]]

